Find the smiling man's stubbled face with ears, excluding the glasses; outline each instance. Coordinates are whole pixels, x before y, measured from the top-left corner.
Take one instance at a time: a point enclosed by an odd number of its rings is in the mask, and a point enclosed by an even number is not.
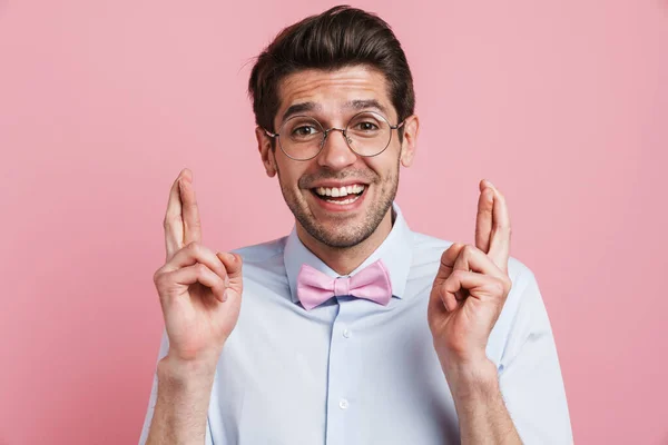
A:
[[[399,123],[384,76],[364,66],[295,72],[281,82],[279,98],[274,118],[277,132],[295,113],[315,118],[324,129],[345,128],[360,111],[374,111],[392,126]],[[296,105],[301,109],[286,116]],[[262,131],[258,142],[267,174],[278,174],[283,197],[297,222],[325,246],[345,248],[370,237],[387,215],[396,195],[400,162],[407,166],[412,160],[413,120],[406,122],[403,144],[392,130],[390,146],[374,157],[353,152],[340,131],[330,132],[322,151],[310,160],[288,158],[278,141],[272,151]],[[336,196],[343,195],[342,187],[347,195]]]

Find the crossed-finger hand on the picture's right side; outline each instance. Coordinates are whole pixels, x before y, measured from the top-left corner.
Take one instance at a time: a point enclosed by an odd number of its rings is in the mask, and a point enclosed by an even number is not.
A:
[[[482,180],[475,246],[455,243],[443,253],[430,296],[429,326],[449,380],[449,374],[489,369],[488,339],[512,286],[510,231],[505,199]]]

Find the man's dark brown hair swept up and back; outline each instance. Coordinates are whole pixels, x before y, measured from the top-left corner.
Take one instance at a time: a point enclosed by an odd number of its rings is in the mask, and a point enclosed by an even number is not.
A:
[[[337,6],[285,28],[257,57],[248,80],[256,123],[276,131],[278,83],[287,75],[354,65],[369,65],[385,76],[399,121],[413,113],[413,77],[390,26],[374,13]],[[401,140],[402,132],[399,136]]]

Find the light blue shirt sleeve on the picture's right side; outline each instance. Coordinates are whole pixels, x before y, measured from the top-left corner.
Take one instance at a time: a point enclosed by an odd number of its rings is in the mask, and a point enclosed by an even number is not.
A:
[[[499,365],[505,407],[524,444],[572,444],[557,346],[538,283],[523,267],[514,285],[523,290]]]

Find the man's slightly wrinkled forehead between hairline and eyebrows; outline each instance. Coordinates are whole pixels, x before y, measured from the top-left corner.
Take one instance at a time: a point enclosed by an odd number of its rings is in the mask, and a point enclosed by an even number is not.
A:
[[[375,100],[390,115],[389,118],[395,115],[385,76],[369,66],[293,72],[279,82],[278,98],[277,122],[288,108],[299,103],[315,105],[314,110],[324,115],[337,115],[351,109],[352,103]]]

